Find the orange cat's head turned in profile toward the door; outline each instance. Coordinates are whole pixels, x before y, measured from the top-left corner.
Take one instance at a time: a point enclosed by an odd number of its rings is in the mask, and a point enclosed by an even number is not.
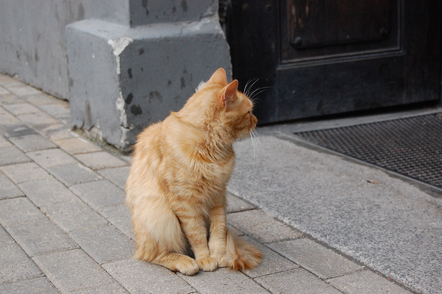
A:
[[[220,68],[198,86],[182,111],[235,140],[255,128],[258,119],[252,109],[251,100],[238,91],[238,80],[228,84],[225,70]]]

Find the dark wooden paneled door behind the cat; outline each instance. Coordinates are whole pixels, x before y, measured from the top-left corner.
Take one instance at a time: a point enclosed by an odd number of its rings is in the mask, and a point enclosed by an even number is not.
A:
[[[440,99],[441,4],[232,0],[233,76],[260,123]]]

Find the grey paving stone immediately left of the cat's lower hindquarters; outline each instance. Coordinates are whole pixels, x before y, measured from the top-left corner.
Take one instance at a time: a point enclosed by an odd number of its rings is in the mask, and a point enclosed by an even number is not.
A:
[[[135,244],[112,225],[69,233],[69,237],[99,264],[130,258]]]

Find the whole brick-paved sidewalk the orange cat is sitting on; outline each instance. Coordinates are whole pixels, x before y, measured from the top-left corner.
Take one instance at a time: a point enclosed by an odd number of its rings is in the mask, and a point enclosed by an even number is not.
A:
[[[133,260],[130,157],[68,120],[67,102],[0,75],[0,294],[411,293],[232,194],[229,225],[263,252],[259,267],[186,276]]]

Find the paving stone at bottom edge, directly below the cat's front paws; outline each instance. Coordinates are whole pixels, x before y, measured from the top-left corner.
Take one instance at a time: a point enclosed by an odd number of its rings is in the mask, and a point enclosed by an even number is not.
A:
[[[199,271],[198,274],[191,276],[177,274],[201,294],[269,293],[240,271],[231,271],[225,267],[218,268],[216,271]]]

